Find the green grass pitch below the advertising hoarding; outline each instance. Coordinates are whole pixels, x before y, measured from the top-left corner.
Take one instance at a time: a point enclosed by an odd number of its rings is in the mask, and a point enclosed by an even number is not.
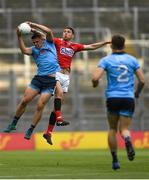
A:
[[[0,179],[149,179],[149,150],[133,162],[119,151],[121,169],[111,169],[108,150],[0,152]]]

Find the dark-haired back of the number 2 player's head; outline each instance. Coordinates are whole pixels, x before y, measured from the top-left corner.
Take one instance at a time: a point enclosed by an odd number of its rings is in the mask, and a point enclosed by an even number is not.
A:
[[[112,36],[112,49],[122,50],[125,47],[125,38],[122,35]]]

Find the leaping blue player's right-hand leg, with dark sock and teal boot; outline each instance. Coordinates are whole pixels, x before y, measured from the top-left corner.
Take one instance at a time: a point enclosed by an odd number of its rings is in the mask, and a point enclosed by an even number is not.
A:
[[[40,121],[41,117],[42,117],[42,113],[43,113],[43,109],[46,105],[46,103],[48,102],[48,100],[50,99],[51,94],[48,93],[42,93],[39,97],[37,106],[36,106],[36,110],[32,119],[32,124],[30,126],[30,128],[26,131],[25,134],[25,139],[30,139],[34,128],[36,127],[36,125],[38,124],[38,122]]]

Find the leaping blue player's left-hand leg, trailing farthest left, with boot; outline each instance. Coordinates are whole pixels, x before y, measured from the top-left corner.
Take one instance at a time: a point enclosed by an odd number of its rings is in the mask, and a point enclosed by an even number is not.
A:
[[[4,130],[4,132],[9,133],[11,131],[16,130],[16,125],[20,117],[22,116],[22,114],[25,112],[26,106],[37,95],[38,95],[38,92],[36,90],[33,90],[30,87],[26,88],[24,96],[21,102],[19,103],[19,105],[17,106],[15,116],[13,117],[11,124],[8,125],[8,127]]]

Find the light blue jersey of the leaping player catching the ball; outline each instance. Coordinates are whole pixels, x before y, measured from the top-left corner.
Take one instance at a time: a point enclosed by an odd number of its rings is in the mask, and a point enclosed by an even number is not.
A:
[[[55,74],[60,71],[56,48],[53,42],[45,40],[40,49],[32,47],[32,56],[37,64],[37,75]]]

